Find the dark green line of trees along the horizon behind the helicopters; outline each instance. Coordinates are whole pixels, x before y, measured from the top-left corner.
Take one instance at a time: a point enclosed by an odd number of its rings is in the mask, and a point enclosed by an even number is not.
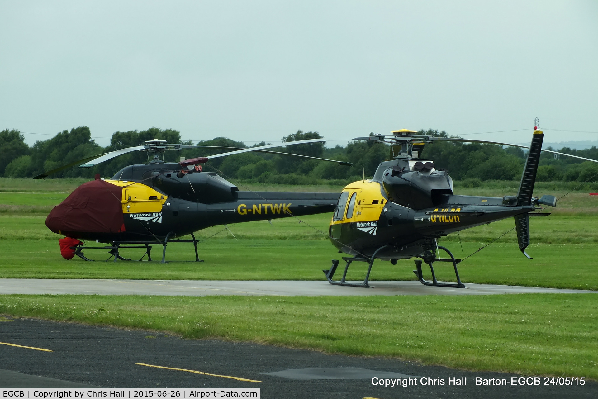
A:
[[[444,131],[420,130],[419,133],[448,137]],[[283,137],[283,141],[322,138],[318,132],[296,133]],[[181,133],[173,129],[129,130],[115,132],[108,147],[102,147],[91,139],[89,127],[80,126],[63,130],[56,136],[36,141],[29,147],[19,130],[0,131],[0,176],[11,178],[33,177],[47,170],[75,162],[96,154],[107,153],[125,147],[135,147],[151,139],[166,140],[171,144],[205,145],[212,147],[248,148],[240,141],[217,137],[200,142],[181,142]],[[265,145],[265,142],[254,145]],[[551,149],[551,148],[549,148]],[[262,183],[279,184],[319,184],[323,181],[334,184],[371,177],[380,162],[392,159],[391,147],[388,144],[370,141],[356,141],[346,147],[336,145],[325,147],[325,142],[299,144],[289,147],[275,148],[274,151],[288,152],[311,157],[342,160],[353,163],[352,166],[341,166],[336,163],[313,159],[283,156],[267,153],[243,153],[210,160],[205,170],[221,173],[226,178]],[[209,156],[231,151],[223,148],[194,148],[181,151],[166,151],[164,161],[178,162],[198,156]],[[598,159],[598,148],[572,150],[568,147],[558,150],[589,159]],[[521,148],[493,144],[464,144],[462,142],[435,142],[425,146],[420,157],[434,160],[437,168],[447,170],[451,177],[461,181],[517,180],[525,163],[526,152]],[[93,178],[96,173],[109,178],[127,165],[148,162],[145,152],[125,154],[110,162],[83,169],[71,167],[52,175],[60,177]],[[598,181],[598,165],[583,162],[570,157],[554,157],[543,153],[538,168],[538,181]]]

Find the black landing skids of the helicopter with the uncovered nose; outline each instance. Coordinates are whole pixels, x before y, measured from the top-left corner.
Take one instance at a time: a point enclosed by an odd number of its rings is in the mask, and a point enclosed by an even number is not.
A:
[[[326,275],[326,279],[332,285],[344,285],[344,286],[347,286],[347,287],[370,288],[370,285],[368,284],[368,280],[370,279],[370,272],[371,272],[372,266],[374,264],[374,259],[376,258],[376,254],[381,249],[386,249],[386,248],[388,248],[388,246],[382,246],[382,247],[378,248],[376,250],[376,252],[374,252],[374,254],[372,255],[371,258],[366,258],[366,257],[353,257],[353,258],[343,257],[343,260],[346,262],[346,266],[344,267],[343,277],[340,279],[340,281],[335,281],[335,280],[332,279],[334,277],[334,273],[336,272],[336,270],[338,268],[339,261],[337,259],[333,259],[332,260],[332,267],[330,269],[328,269],[328,270],[322,270],[322,272],[324,272],[324,274]],[[459,278],[459,271],[457,270],[457,263],[459,263],[461,260],[460,259],[455,259],[454,256],[453,256],[453,254],[449,251],[449,249],[444,248],[444,246],[438,246],[438,249],[442,249],[443,251],[447,252],[447,254],[449,254],[449,256],[450,256],[450,259],[447,259],[447,258],[436,258],[436,257],[434,257],[429,262],[426,262],[430,266],[430,270],[432,272],[432,281],[426,281],[426,280],[423,279],[422,261],[421,260],[416,260],[415,261],[417,270],[413,270],[413,273],[416,274],[417,278],[419,279],[419,281],[423,285],[431,285],[431,286],[434,286],[434,287],[467,288],[461,282],[461,279]],[[364,282],[362,282],[361,284],[356,283],[356,282],[346,282],[347,271],[349,270],[349,266],[350,266],[351,263],[353,263],[355,261],[369,263],[368,271],[367,271],[367,273],[365,273]],[[455,276],[457,278],[457,282],[456,283],[453,284],[453,283],[438,282],[438,280],[436,279],[436,274],[434,273],[434,266],[432,266],[432,263],[434,263],[436,261],[439,261],[439,262],[451,262],[451,263],[453,263],[454,274],[455,274]]]

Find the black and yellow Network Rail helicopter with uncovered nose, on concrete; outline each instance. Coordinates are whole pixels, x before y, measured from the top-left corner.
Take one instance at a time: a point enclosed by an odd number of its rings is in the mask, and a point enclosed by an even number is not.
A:
[[[461,282],[456,259],[448,248],[438,245],[438,239],[493,221],[513,217],[517,242],[521,252],[529,245],[529,217],[547,217],[548,213],[535,212],[540,205],[556,206],[557,199],[551,195],[532,197],[541,151],[582,160],[593,159],[542,150],[544,132],[535,120],[532,142],[529,147],[493,141],[469,140],[419,135],[415,130],[393,130],[391,135],[358,137],[354,140],[384,142],[391,144],[393,159],[382,162],[373,178],[353,182],[341,191],[337,206],[329,224],[328,236],[338,252],[351,255],[343,257],[343,276],[334,280],[339,260],[322,270],[333,285],[368,288],[368,279],[375,259],[389,260],[396,264],[399,259],[414,260],[417,279],[424,285],[436,287],[466,288]],[[480,142],[529,148],[521,182],[516,196],[477,197],[453,194],[453,180],[449,173],[437,169],[433,160],[420,159],[426,144],[435,141]],[[440,251],[447,258],[440,257]],[[368,263],[363,282],[347,282],[350,264],[355,261]],[[432,281],[426,281],[422,273],[422,261],[428,264]],[[439,282],[433,264],[437,261],[453,264],[456,283]]]

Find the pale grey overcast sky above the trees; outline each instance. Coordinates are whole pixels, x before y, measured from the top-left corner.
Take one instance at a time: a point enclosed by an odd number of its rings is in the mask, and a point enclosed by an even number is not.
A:
[[[598,2],[0,2],[0,129],[596,140]]]

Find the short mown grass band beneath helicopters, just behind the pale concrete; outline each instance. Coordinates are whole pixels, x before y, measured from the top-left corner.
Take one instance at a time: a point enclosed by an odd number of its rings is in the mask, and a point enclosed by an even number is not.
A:
[[[481,243],[447,242],[456,257],[465,257]],[[161,248],[155,248],[160,251]],[[322,270],[339,255],[331,243],[322,240],[228,240],[210,239],[199,245],[204,262],[197,263],[193,245],[169,245],[164,266],[161,258],[153,262],[104,262],[108,251],[85,251],[96,262],[78,257],[65,260],[60,256],[57,240],[1,240],[0,278],[59,279],[145,279],[145,280],[316,280],[324,281]],[[462,281],[480,284],[520,285],[528,287],[598,290],[596,244],[533,244],[527,259],[517,244],[493,243],[459,264]],[[144,250],[127,249],[124,257],[139,259]],[[158,254],[161,255],[160,252]],[[266,255],[265,255],[266,254]],[[438,279],[454,281],[453,266],[448,262],[434,264]],[[371,281],[413,280],[413,260],[393,265],[377,260]],[[353,263],[349,280],[363,281],[367,264]],[[431,279],[429,267],[423,270]]]

